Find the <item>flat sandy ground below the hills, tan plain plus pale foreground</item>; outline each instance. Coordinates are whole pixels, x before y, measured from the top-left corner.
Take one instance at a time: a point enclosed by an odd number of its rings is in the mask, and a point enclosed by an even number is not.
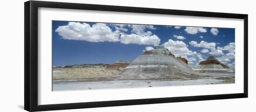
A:
[[[207,74],[191,79],[118,79],[104,66],[53,68],[53,91],[235,83],[235,74]]]

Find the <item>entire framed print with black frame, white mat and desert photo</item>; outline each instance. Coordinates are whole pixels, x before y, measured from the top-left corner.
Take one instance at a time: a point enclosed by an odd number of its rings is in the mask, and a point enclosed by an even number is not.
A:
[[[248,15],[25,2],[25,110],[248,97]]]

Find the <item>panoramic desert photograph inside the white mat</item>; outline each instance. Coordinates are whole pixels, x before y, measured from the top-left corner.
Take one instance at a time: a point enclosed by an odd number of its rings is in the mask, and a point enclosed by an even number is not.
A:
[[[235,83],[235,28],[52,21],[52,91]]]

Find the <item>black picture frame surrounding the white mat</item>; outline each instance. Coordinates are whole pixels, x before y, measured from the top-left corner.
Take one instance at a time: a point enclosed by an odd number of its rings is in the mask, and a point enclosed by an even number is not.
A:
[[[38,79],[38,8],[39,7],[243,19],[244,20],[244,60],[243,60],[244,62],[243,89],[244,90],[243,90],[243,93],[38,105],[38,80],[37,79]],[[248,98],[248,14],[213,13],[213,12],[200,12],[200,11],[185,11],[185,10],[156,9],[156,8],[142,8],[142,7],[122,7],[122,6],[92,5],[92,4],[48,2],[48,1],[27,1],[24,3],[24,11],[25,11],[25,15],[24,15],[24,24],[25,24],[24,25],[24,29],[25,29],[25,33],[24,33],[24,37],[25,37],[25,40],[24,40],[25,41],[24,108],[27,111],[32,112],[32,111],[49,111],[49,110],[93,108],[93,107],[121,106],[121,105],[144,105],[144,104],[213,100],[213,99]]]

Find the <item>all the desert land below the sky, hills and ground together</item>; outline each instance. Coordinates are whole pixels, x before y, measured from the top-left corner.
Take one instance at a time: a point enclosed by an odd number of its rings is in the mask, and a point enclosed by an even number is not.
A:
[[[235,83],[235,72],[214,56],[189,66],[155,46],[133,61],[53,67],[53,91]]]

